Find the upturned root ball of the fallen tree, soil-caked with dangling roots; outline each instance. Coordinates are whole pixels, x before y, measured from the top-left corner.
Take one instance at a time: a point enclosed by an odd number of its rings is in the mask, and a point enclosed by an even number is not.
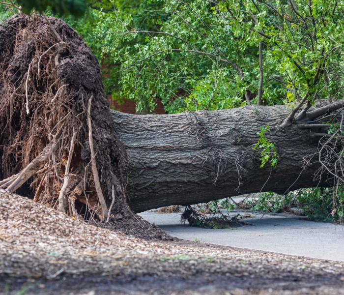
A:
[[[0,188],[144,236],[148,224],[125,201],[126,153],[97,59],[62,20],[20,14],[6,23],[0,27]]]

